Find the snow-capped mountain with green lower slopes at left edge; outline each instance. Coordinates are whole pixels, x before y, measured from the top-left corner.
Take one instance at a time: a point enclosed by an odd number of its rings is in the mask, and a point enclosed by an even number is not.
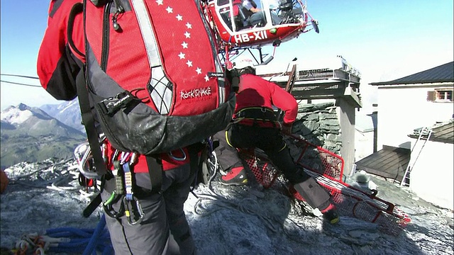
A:
[[[52,118],[40,108],[10,106],[1,111],[1,167],[19,162],[72,157],[84,133]]]

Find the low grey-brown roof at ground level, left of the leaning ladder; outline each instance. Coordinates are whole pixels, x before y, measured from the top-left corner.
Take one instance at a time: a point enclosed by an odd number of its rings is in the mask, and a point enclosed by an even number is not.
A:
[[[357,170],[364,170],[399,183],[404,178],[406,167],[410,162],[410,150],[391,146],[383,146],[380,151],[356,162]]]

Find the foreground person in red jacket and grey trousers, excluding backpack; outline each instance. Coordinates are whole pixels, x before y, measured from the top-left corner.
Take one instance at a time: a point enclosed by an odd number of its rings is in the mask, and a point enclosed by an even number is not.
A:
[[[68,16],[71,8],[82,0],[52,0],[50,2],[48,28],[38,52],[38,77],[43,88],[59,100],[72,100],[77,96],[75,77],[85,62],[84,30],[82,13],[74,20],[72,40],[74,49],[67,40]],[[103,146],[104,147],[104,146]],[[112,212],[106,211],[106,225],[115,253],[125,254],[195,254],[194,240],[189,229],[183,204],[189,195],[194,180],[194,171],[189,164],[188,149],[183,148],[169,154],[162,154],[162,187],[159,193],[151,192],[150,174],[145,156],[137,158],[129,154],[118,154],[106,141],[104,154],[107,169],[113,169],[112,162],[121,156],[130,161],[134,171],[134,196],[144,212],[138,224],[131,225],[128,217],[121,211],[122,200],[111,205]],[[160,171],[161,172],[161,171]],[[115,179],[106,181],[106,185]],[[104,190],[103,201],[110,194]],[[105,208],[106,209],[106,208]],[[118,216],[118,217],[116,217]]]

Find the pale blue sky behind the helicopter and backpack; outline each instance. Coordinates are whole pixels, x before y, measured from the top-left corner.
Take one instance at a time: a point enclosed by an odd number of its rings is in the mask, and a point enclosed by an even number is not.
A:
[[[1,74],[36,77],[36,58],[48,16],[48,0],[1,0]],[[342,55],[362,73],[365,108],[377,103],[375,81],[421,72],[454,59],[452,0],[307,0],[319,21],[310,31],[275,51],[272,64],[320,62]],[[265,48],[264,52],[272,52]],[[39,85],[38,80],[1,76],[1,80]],[[60,103],[44,89],[1,82],[1,110],[26,103]]]

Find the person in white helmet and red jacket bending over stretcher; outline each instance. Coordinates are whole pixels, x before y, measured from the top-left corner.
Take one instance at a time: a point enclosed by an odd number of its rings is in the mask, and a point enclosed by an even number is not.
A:
[[[319,183],[294,164],[281,135],[281,132],[292,133],[292,123],[298,113],[295,98],[277,84],[256,76],[252,60],[240,60],[233,68],[239,72],[240,82],[233,124],[226,132],[228,145],[233,149],[262,149],[312,208],[318,208],[328,222],[337,223],[338,213],[330,196]],[[273,106],[284,111],[282,128],[275,117]],[[222,139],[221,136],[218,138]],[[220,157],[221,165],[223,160]],[[221,177],[221,182],[247,183],[245,170],[234,165],[226,176]]]

